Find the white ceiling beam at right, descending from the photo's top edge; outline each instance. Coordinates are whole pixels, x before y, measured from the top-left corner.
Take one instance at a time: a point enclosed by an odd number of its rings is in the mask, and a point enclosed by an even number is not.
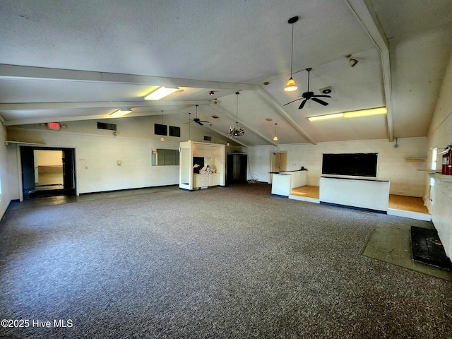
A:
[[[383,28],[377,18],[369,0],[344,0],[350,11],[356,16],[364,30],[367,32],[375,46],[380,51],[381,71],[383,75],[384,96],[386,100],[387,129],[389,141],[394,140],[393,128],[393,104],[392,104],[392,81],[391,81],[391,64],[389,62],[389,43]]]

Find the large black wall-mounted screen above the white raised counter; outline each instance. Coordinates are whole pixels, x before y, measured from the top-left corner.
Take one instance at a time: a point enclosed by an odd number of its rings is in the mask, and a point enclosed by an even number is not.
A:
[[[378,153],[323,154],[322,174],[376,177]]]

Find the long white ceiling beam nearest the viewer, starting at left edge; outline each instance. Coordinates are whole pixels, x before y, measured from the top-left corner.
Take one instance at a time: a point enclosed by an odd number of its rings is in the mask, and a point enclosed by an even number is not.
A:
[[[86,81],[100,83],[124,83],[134,85],[179,86],[226,90],[256,90],[258,85],[249,83],[225,83],[138,74],[78,71],[73,69],[49,69],[44,67],[0,64],[0,78],[45,79],[56,81]]]

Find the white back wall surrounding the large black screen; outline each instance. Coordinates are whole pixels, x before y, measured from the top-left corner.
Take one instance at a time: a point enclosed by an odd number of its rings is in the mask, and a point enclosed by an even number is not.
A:
[[[379,153],[378,176],[376,179],[391,182],[391,194],[423,196],[424,174],[417,169],[425,168],[425,162],[407,161],[410,157],[427,156],[427,138],[399,138],[398,148],[387,140],[338,141],[334,143],[280,145],[287,150],[287,170],[304,166],[308,169],[307,184],[319,186],[323,153]],[[249,174],[260,182],[270,180],[270,153],[274,146],[251,146],[249,153]],[[251,172],[250,172],[251,169]]]

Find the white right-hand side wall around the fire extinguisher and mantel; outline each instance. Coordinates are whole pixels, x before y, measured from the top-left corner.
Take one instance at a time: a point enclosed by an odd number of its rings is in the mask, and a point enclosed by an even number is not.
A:
[[[427,137],[429,150],[438,148],[438,152],[444,150],[447,145],[452,144],[452,54],[449,59],[448,68],[444,75],[443,85],[439,99],[436,102],[435,112],[430,124]],[[442,148],[442,150],[441,150]],[[437,169],[441,171],[441,157],[437,158]],[[432,162],[432,154],[429,152],[427,162]],[[427,175],[427,174],[426,174]],[[426,179],[427,180],[427,179]],[[437,183],[434,187],[432,205],[428,206],[432,214],[432,222],[438,230],[441,242],[446,254],[452,258],[452,184]],[[429,196],[428,186],[425,191]]]

